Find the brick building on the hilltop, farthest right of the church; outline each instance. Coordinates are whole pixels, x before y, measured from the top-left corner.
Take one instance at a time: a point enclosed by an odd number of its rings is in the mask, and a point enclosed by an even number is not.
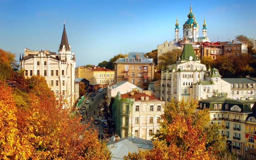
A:
[[[240,41],[233,40],[232,42],[224,44],[223,52],[224,52],[224,55],[228,55],[228,56],[239,56],[242,54],[247,54],[248,53],[247,44]]]

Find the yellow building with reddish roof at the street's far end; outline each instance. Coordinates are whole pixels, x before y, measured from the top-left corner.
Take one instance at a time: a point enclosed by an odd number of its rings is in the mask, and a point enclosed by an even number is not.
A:
[[[104,88],[114,84],[115,71],[105,67],[78,67],[75,68],[75,76],[85,78],[94,85],[94,89]]]

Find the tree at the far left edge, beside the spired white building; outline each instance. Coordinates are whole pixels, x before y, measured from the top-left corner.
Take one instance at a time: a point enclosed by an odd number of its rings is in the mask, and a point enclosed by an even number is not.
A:
[[[12,66],[10,65],[7,53],[0,49],[0,80],[11,80]]]

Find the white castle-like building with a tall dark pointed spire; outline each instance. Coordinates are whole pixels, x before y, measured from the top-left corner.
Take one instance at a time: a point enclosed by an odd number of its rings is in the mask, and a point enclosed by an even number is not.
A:
[[[31,51],[25,48],[25,55],[20,57],[20,68],[25,70],[25,77],[44,76],[56,100],[62,101],[63,107],[70,107],[75,102],[75,53],[67,40],[65,25],[58,54],[49,50]]]

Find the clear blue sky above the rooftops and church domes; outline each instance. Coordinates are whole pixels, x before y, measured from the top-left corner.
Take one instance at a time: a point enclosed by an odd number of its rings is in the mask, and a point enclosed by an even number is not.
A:
[[[98,65],[118,53],[150,52],[175,35],[176,17],[186,22],[190,3],[202,36],[206,19],[211,41],[243,34],[256,38],[256,0],[0,0],[0,48],[58,52],[65,19],[76,66]]]

